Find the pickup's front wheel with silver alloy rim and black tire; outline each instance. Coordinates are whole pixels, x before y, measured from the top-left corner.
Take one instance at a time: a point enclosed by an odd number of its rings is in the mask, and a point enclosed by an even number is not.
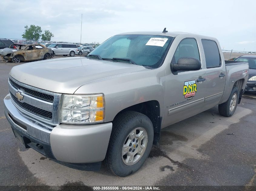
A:
[[[127,111],[113,121],[113,130],[104,160],[115,175],[128,176],[144,164],[154,139],[151,120],[142,113]]]

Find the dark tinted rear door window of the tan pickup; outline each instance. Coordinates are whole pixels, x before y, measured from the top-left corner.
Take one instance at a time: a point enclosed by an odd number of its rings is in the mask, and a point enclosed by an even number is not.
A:
[[[213,40],[202,39],[206,68],[221,66],[221,57],[218,46]]]

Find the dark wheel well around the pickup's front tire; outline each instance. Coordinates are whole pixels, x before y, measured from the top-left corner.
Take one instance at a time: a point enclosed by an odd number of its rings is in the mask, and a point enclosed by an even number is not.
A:
[[[118,112],[115,118],[125,111],[137,111],[139,113],[147,116],[154,127],[154,140],[153,144],[158,145],[160,140],[160,131],[161,131],[161,121],[162,117],[160,116],[160,104],[157,100],[146,101],[142,103],[135,104],[133,106],[127,107],[120,112]]]

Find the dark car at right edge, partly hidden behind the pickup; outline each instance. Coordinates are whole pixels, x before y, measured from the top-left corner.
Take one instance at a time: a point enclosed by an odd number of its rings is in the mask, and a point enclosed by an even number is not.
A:
[[[249,63],[249,76],[246,91],[256,93],[256,56],[244,55],[238,57],[234,61]]]

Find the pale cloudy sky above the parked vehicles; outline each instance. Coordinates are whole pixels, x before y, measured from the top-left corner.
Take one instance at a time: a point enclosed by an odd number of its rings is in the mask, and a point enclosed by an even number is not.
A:
[[[81,14],[82,33],[81,33]],[[222,49],[256,51],[256,1],[251,0],[0,0],[0,38],[21,39],[25,25],[50,30],[52,41],[102,43],[131,31],[216,37]]]

